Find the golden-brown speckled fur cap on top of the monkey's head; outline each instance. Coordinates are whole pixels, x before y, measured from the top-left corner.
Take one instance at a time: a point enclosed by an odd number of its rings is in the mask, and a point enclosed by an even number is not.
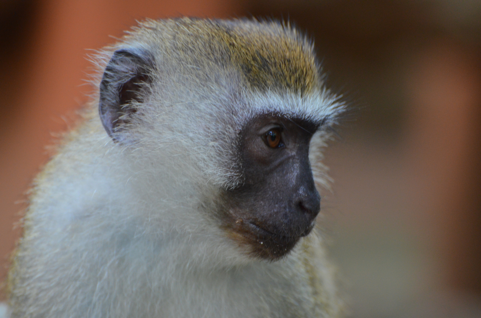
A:
[[[147,20],[134,33],[162,41],[177,62],[233,68],[254,91],[304,95],[320,84],[312,43],[289,24],[180,18]]]

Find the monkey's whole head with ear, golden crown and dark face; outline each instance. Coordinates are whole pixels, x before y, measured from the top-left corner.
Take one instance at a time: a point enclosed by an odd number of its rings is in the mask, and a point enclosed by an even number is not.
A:
[[[104,53],[99,111],[135,158],[142,202],[185,204],[185,214],[169,215],[145,203],[149,220],[162,215],[160,226],[199,237],[215,228],[249,257],[285,256],[320,210],[309,148],[322,138],[313,136],[343,109],[323,86],[312,44],[277,22],[142,26]]]

